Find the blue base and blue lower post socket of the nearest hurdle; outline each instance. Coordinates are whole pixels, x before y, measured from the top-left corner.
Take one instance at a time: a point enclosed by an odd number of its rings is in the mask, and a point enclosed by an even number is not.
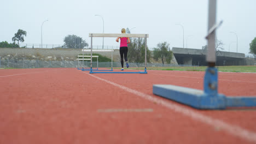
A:
[[[203,85],[203,91],[173,85],[153,85],[153,93],[196,109],[256,106],[256,97],[226,97],[218,94],[218,71],[215,67],[206,69]]]

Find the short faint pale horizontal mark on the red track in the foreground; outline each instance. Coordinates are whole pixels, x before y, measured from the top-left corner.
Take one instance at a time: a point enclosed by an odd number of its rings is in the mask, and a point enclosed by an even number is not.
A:
[[[153,109],[98,109],[97,112],[153,112]]]

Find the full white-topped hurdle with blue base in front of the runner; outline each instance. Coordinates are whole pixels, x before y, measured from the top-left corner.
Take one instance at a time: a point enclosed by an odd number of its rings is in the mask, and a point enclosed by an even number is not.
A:
[[[122,33],[122,34],[110,34],[110,33],[89,33],[89,37],[91,37],[91,56],[92,56],[92,51],[95,51],[92,49],[92,38],[93,37],[129,37],[129,38],[145,38],[145,47],[147,48],[147,38],[148,38],[148,34],[127,34],[127,33]],[[111,70],[106,71],[106,70],[102,70],[102,71],[96,71],[92,69],[92,61],[91,61],[91,70],[90,70],[90,74],[147,74],[147,49],[145,49],[145,69],[144,71],[113,71],[113,65],[111,67]]]

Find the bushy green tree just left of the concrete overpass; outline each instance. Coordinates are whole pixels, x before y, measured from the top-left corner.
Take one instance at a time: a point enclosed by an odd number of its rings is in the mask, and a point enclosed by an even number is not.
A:
[[[162,64],[171,63],[172,60],[172,51],[170,50],[170,44],[167,44],[167,42],[159,43],[156,48],[154,48],[153,51],[153,58],[158,61],[160,58],[162,61]]]

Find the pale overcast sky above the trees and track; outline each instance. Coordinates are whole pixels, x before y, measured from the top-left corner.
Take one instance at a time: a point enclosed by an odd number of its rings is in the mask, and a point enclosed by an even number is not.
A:
[[[217,1],[217,39],[223,41],[224,51],[249,52],[249,43],[256,37],[255,0]],[[167,42],[170,47],[202,49],[207,44],[207,0],[8,0],[1,2],[0,41],[12,43],[18,29],[27,32],[23,44],[63,45],[63,39],[74,34],[90,45],[89,33],[149,34],[148,47]],[[44,22],[43,21],[48,20]],[[176,25],[179,24],[179,25]],[[182,26],[181,26],[182,25]],[[231,33],[232,32],[232,33]],[[237,39],[236,39],[237,35]],[[236,45],[237,43],[237,45]],[[94,38],[93,45],[102,45]],[[104,38],[104,46],[119,46],[115,38]]]

